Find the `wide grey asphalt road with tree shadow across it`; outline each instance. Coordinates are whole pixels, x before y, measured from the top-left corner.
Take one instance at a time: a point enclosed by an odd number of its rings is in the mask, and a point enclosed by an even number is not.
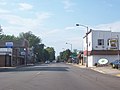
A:
[[[63,63],[0,72],[0,90],[120,90],[120,78]]]

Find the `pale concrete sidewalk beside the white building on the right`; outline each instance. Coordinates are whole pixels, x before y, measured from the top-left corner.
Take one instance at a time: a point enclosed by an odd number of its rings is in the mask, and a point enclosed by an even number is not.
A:
[[[73,66],[77,66],[80,68],[88,68],[88,69],[92,69],[94,71],[103,73],[103,74],[109,74],[109,75],[113,75],[113,76],[117,76],[120,77],[120,69],[113,69],[111,66],[104,66],[104,67],[86,67],[83,65],[79,65],[79,64],[72,64]]]

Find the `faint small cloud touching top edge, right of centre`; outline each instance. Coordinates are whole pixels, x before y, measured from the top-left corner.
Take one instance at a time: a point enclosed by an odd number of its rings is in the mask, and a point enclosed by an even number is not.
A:
[[[75,5],[74,3],[72,3],[70,0],[64,0],[63,4],[64,4],[64,9],[67,12],[73,12],[72,7]]]

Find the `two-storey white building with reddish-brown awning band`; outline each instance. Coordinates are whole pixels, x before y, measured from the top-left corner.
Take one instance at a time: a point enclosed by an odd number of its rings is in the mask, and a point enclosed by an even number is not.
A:
[[[108,63],[119,59],[120,32],[90,30],[86,36],[83,38],[83,51],[88,67],[94,66],[102,58],[107,59]]]

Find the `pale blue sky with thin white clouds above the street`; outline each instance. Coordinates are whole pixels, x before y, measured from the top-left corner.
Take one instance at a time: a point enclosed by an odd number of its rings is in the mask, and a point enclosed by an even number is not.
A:
[[[0,0],[0,25],[7,35],[31,31],[59,55],[82,50],[86,28],[76,23],[119,32],[119,11],[120,0]]]

